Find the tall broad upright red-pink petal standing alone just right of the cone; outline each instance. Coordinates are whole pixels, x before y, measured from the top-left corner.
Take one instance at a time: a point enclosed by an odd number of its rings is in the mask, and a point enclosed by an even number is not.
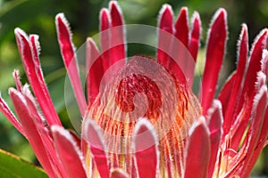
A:
[[[222,60],[225,53],[227,41],[227,13],[224,9],[219,9],[212,21],[208,32],[205,71],[202,78],[201,106],[205,115],[214,99],[214,93],[222,67]]]

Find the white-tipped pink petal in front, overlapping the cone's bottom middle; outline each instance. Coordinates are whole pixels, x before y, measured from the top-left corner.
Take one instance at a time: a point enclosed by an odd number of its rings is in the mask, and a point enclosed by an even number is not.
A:
[[[135,160],[139,177],[158,176],[158,142],[154,126],[147,119],[140,119],[134,128]]]

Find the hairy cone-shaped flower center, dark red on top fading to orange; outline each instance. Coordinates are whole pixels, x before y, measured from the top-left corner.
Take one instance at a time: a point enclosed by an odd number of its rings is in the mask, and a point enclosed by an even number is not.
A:
[[[147,117],[154,125],[163,162],[165,158],[176,162],[182,159],[181,144],[199,117],[200,106],[188,86],[180,84],[163,66],[134,56],[109,77],[88,115],[104,131],[111,166],[122,166],[129,173],[132,161],[120,155],[132,153],[131,136],[139,117]],[[180,164],[171,165],[178,169]]]

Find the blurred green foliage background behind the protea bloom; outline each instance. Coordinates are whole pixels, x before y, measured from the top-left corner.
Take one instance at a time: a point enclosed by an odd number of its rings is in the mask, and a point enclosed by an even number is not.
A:
[[[85,42],[87,36],[98,33],[98,17],[102,7],[108,6],[107,0],[0,0],[0,91],[5,101],[12,107],[7,90],[13,83],[13,69],[20,69],[22,82],[27,82],[21,60],[15,44],[13,29],[20,27],[28,34],[35,33],[40,36],[41,64],[46,77],[46,83],[52,95],[54,105],[66,127],[71,127],[63,101],[63,85],[65,70],[56,41],[54,16],[64,12],[71,23],[73,41],[76,46]],[[126,23],[141,23],[155,26],[158,12],[162,4],[172,4],[174,14],[177,16],[181,6],[188,6],[189,15],[194,11],[200,13],[203,33],[199,57],[204,57],[204,47],[207,28],[214,12],[224,7],[228,12],[229,40],[224,68],[220,78],[220,85],[230,71],[235,69],[237,40],[241,24],[247,23],[249,29],[249,42],[268,24],[267,0],[121,0],[122,12]],[[130,45],[129,55],[146,53],[155,55],[151,48]],[[0,114],[0,149],[8,150],[31,162],[37,160],[29,147],[28,142],[19,134],[2,114]],[[38,164],[38,163],[37,163]],[[268,175],[268,149],[255,166],[254,174]]]

